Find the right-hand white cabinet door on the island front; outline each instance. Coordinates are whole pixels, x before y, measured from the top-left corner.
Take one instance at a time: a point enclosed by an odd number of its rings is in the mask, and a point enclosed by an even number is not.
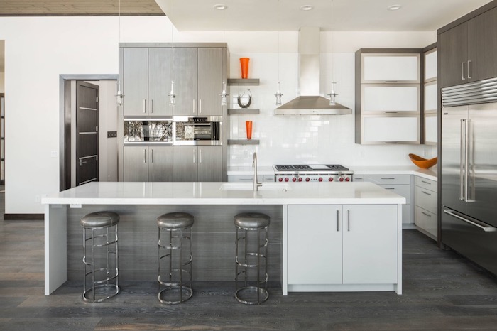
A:
[[[344,205],[344,284],[397,283],[397,205]]]

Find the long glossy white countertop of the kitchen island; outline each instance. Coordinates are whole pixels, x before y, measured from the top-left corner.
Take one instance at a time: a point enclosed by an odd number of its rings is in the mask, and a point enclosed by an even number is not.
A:
[[[244,186],[246,185],[246,186]],[[223,190],[224,188],[224,190]],[[45,205],[391,205],[405,197],[373,183],[112,183],[92,182],[49,194]]]

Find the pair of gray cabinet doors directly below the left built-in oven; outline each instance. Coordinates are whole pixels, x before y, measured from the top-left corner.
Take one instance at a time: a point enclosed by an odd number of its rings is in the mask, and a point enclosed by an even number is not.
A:
[[[173,180],[172,146],[125,146],[125,182],[170,182]]]

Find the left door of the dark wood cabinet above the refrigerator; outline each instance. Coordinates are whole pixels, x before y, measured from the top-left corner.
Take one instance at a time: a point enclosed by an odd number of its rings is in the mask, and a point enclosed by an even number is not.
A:
[[[438,38],[440,53],[440,87],[464,84],[467,79],[468,24],[441,33]]]

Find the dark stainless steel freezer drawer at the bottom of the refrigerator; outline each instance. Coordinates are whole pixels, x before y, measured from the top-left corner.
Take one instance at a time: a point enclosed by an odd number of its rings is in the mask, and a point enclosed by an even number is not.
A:
[[[463,219],[470,222],[476,221],[474,222],[476,225]],[[442,207],[442,240],[444,244],[483,266],[491,273],[497,274],[497,232],[487,232],[478,225],[485,226],[471,217],[459,215],[454,210]]]

